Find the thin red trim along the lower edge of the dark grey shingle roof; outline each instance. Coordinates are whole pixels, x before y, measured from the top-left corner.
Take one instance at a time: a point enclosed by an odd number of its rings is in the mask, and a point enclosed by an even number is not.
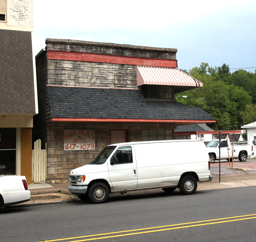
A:
[[[142,122],[142,123],[215,123],[216,120],[128,119],[128,118],[52,118],[51,122]]]

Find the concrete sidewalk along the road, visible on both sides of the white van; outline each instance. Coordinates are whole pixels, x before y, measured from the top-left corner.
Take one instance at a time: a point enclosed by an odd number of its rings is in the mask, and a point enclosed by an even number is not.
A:
[[[256,186],[256,170],[247,172],[244,170],[230,170],[225,167],[221,169],[221,182],[219,182],[219,167],[212,166],[212,181],[197,183],[197,191]],[[69,183],[33,183],[32,185],[28,185],[28,189],[31,192],[30,201],[12,205],[10,207],[28,207],[81,201],[79,198],[73,196],[69,192],[69,185]],[[154,189],[154,192],[156,192],[156,190],[158,190],[158,192],[162,192],[161,188]],[[135,193],[138,194],[138,192],[141,194],[148,194],[152,193],[152,189],[127,192],[125,196],[129,196]],[[120,194],[110,194],[109,197],[117,195],[120,196]]]

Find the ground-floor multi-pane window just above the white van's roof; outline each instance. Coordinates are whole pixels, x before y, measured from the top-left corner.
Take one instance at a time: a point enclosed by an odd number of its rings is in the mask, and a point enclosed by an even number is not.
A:
[[[171,140],[171,139],[173,139],[172,129],[142,130],[142,141]]]

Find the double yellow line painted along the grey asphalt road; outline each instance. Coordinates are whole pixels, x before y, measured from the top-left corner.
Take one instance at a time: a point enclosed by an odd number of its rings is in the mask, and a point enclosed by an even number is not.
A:
[[[96,235],[85,235],[85,236],[78,236],[78,237],[72,237],[72,238],[61,238],[56,240],[44,240],[40,242],[54,242],[54,241],[67,241],[67,240],[70,240],[69,242],[82,242],[82,241],[90,241],[90,240],[99,240],[104,238],[115,238],[115,237],[128,236],[128,235],[154,233],[154,232],[167,231],[172,229],[183,229],[183,228],[197,227],[197,226],[210,225],[210,224],[222,224],[222,223],[242,221],[242,220],[248,220],[248,219],[254,219],[254,218],[256,218],[256,214],[248,214],[248,215],[234,216],[234,217],[228,217],[228,218],[216,218],[216,219],[188,222],[188,223],[182,223],[182,224],[171,224],[171,225],[163,225],[163,226],[149,227],[149,228],[143,228],[143,229],[116,231],[116,232],[102,233],[102,234],[96,234]],[[129,233],[129,232],[134,232],[134,233]],[[107,235],[107,236],[103,236],[103,235]],[[100,236],[103,236],[103,237],[100,237]],[[88,237],[91,237],[91,238],[88,238]],[[80,239],[80,238],[84,238],[84,239],[74,240],[74,239]]]

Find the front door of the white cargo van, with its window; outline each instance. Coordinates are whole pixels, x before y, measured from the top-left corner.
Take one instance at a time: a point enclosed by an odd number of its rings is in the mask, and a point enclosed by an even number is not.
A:
[[[115,151],[112,157],[117,158],[116,164],[108,163],[109,177],[114,192],[137,188],[137,167],[133,159],[131,146],[123,146]]]

